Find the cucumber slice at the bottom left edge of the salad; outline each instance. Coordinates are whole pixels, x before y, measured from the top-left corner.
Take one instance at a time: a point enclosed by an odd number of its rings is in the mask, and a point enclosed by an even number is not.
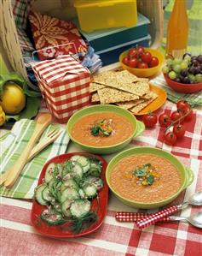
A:
[[[49,211],[48,209],[45,209],[41,213],[41,218],[49,223],[50,225],[58,225],[61,223],[64,223],[65,220],[62,217],[61,213],[55,212],[55,211]]]

